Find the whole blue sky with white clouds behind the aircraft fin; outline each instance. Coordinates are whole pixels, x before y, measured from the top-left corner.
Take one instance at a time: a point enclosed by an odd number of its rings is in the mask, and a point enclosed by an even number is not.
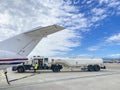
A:
[[[119,0],[0,1],[0,40],[51,24],[66,29],[44,38],[30,55],[120,57]]]

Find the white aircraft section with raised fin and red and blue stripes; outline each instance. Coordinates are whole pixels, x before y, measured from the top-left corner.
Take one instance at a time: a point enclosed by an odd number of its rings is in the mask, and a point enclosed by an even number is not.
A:
[[[63,30],[64,27],[51,25],[38,27],[31,31],[13,36],[0,42],[0,69],[9,65],[20,64],[28,60],[26,58],[43,37]]]

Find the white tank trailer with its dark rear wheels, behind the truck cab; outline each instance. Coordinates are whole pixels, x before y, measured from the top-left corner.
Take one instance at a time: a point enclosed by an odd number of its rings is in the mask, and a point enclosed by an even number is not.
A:
[[[69,68],[80,68],[84,71],[100,71],[101,69],[106,69],[102,58],[52,59],[52,64],[59,64]]]

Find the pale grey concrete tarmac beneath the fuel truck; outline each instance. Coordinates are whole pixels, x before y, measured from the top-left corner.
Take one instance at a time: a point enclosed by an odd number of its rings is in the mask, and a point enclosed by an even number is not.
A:
[[[83,72],[64,69],[52,71],[0,72],[0,90],[120,90],[120,64],[105,64],[107,69],[99,72]]]

